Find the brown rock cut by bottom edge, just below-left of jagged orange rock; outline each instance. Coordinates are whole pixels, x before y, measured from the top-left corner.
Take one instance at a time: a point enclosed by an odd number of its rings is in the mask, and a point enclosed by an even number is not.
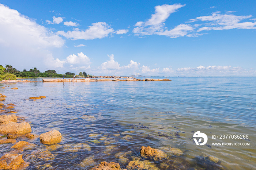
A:
[[[129,162],[126,168],[129,170],[144,170],[144,169],[159,170],[154,163],[151,163],[148,161],[140,161],[140,160]]]

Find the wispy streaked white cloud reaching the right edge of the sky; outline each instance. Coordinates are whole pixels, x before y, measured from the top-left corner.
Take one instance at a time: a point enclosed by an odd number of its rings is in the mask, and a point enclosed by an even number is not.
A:
[[[230,30],[230,29],[256,29],[256,22],[242,22],[242,20],[251,18],[248,16],[237,16],[232,14],[221,14],[220,12],[214,12],[210,16],[200,16],[195,19],[189,20],[189,22],[204,22],[204,27],[201,27],[197,32],[203,30]]]

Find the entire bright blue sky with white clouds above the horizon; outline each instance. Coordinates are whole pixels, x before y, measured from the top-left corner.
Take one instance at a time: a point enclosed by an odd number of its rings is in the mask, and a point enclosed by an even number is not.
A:
[[[128,76],[256,76],[256,1],[0,0],[0,64]]]

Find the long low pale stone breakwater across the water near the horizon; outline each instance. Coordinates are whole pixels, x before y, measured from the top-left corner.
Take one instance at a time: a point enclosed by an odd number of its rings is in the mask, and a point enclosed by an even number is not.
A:
[[[82,82],[82,81],[171,81],[167,78],[163,79],[155,79],[155,78],[145,78],[143,80],[137,79],[134,77],[131,78],[125,78],[125,79],[118,79],[114,78],[112,79],[90,79],[90,78],[85,78],[85,79],[55,79],[55,78],[43,78],[43,82]]]

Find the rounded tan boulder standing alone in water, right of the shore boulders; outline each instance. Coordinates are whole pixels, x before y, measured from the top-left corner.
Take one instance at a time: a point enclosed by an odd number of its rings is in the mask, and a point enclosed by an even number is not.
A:
[[[61,141],[61,133],[53,130],[40,135],[40,141],[44,144],[55,144]]]

